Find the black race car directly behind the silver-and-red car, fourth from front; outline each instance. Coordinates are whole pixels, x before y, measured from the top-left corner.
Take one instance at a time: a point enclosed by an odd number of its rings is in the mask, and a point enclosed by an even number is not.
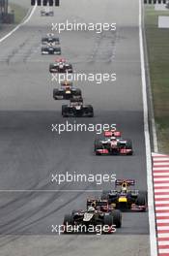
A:
[[[83,99],[70,99],[69,105],[62,106],[63,117],[93,117],[92,105],[83,105]]]

